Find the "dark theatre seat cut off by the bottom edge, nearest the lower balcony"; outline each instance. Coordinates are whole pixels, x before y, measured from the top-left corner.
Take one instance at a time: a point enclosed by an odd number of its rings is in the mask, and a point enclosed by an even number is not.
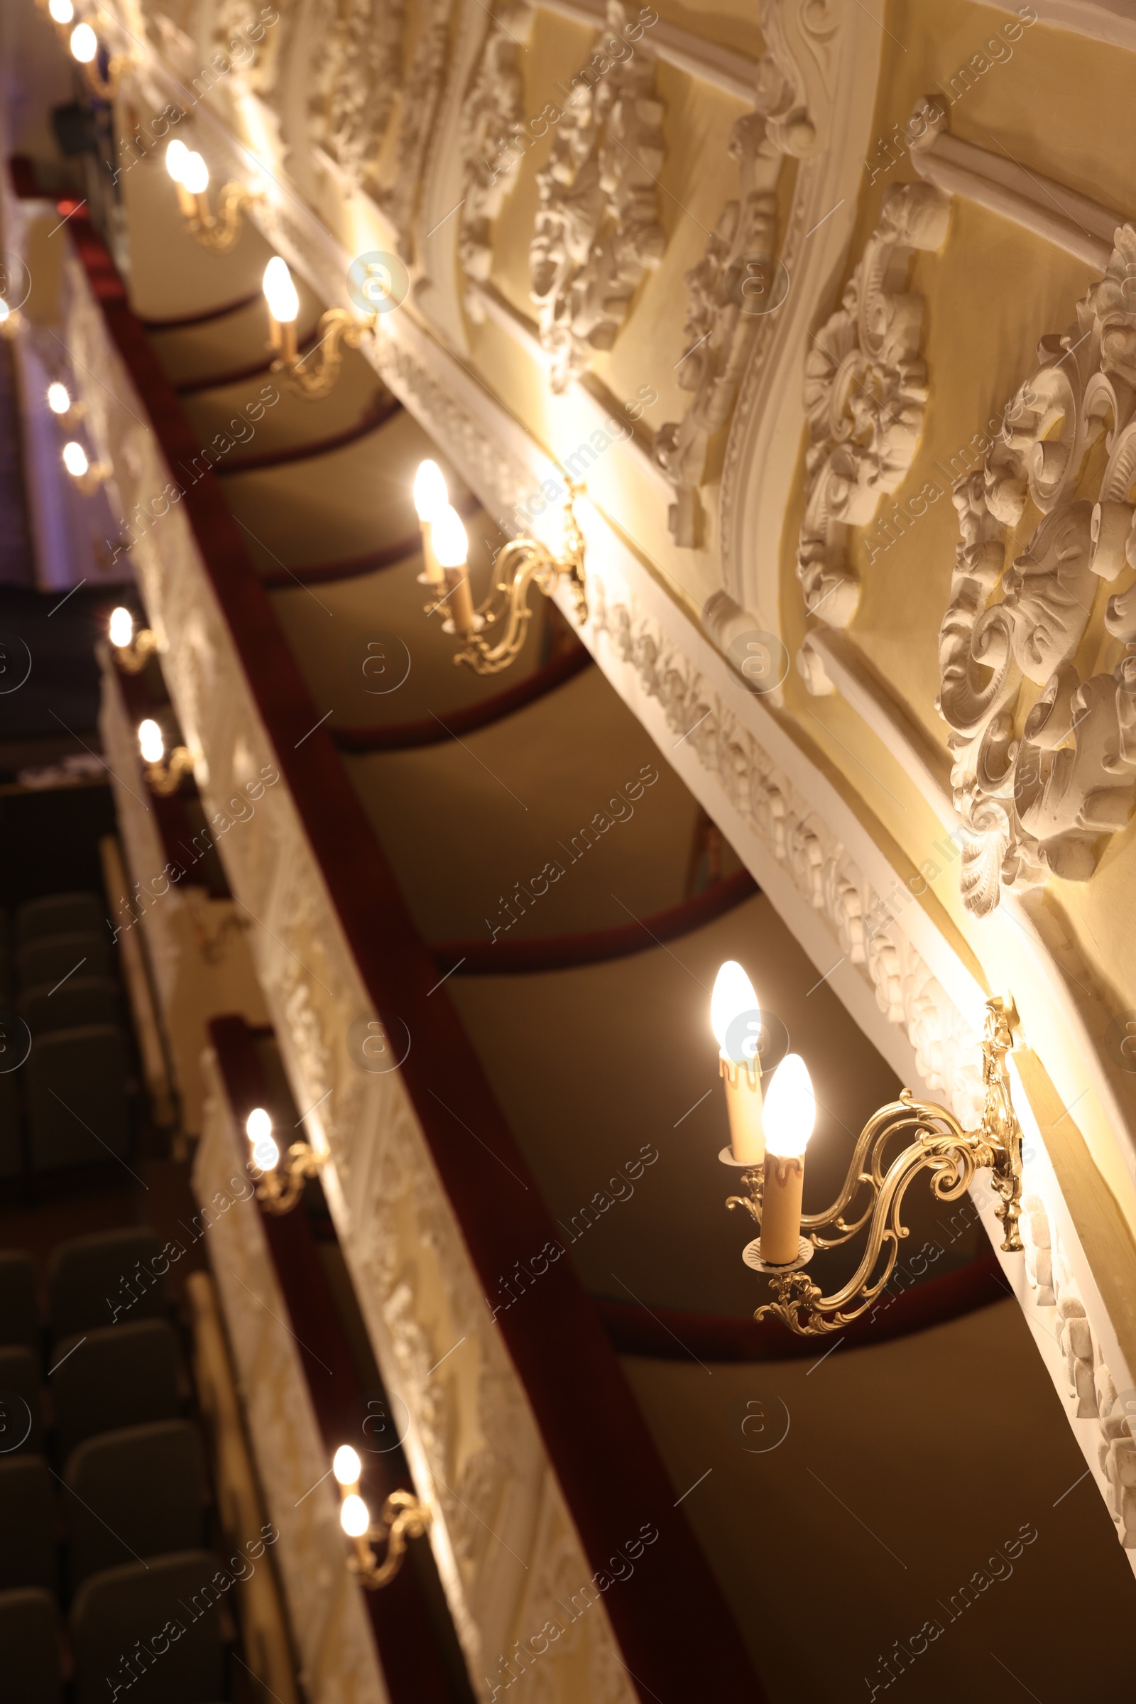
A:
[[[225,1644],[206,1551],[92,1574],[72,1607],[75,1704],[201,1704],[225,1695]],[[175,1631],[181,1629],[181,1631]]]

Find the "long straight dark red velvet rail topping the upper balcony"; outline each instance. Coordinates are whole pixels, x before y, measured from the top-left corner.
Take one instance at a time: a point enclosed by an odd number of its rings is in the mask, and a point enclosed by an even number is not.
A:
[[[66,208],[61,204],[60,211]],[[68,220],[68,230],[169,465],[191,460],[198,448],[194,433],[129,310],[106,245],[78,213]],[[182,501],[373,1007],[392,1022],[405,1022],[412,1034],[402,1082],[489,1295],[516,1261],[528,1263],[545,1242],[557,1241],[555,1223],[526,1176],[513,1131],[446,990],[434,988],[433,956],[410,920],[332,738],[318,726],[320,712],[216,475],[204,474]],[[477,1131],[477,1140],[470,1131]],[[635,1573],[611,1585],[603,1598],[628,1673],[642,1687],[642,1704],[651,1697],[763,1704],[765,1692],[737,1626],[685,1510],[674,1508],[659,1452],[571,1263],[552,1264],[531,1295],[533,1305],[509,1309],[497,1329],[523,1380],[591,1568],[605,1569],[608,1557],[634,1540],[644,1523],[654,1523],[659,1534]]]

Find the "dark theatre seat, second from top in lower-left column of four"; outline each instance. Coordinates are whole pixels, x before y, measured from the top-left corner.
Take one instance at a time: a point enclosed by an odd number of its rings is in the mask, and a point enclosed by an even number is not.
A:
[[[104,1326],[56,1344],[51,1377],[61,1462],[85,1438],[177,1419],[177,1341],[162,1319]]]

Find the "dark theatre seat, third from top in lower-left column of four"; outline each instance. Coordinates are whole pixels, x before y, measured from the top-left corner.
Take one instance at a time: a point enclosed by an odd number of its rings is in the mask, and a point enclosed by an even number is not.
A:
[[[106,1568],[201,1544],[201,1442],[187,1419],[87,1438],[63,1484],[72,1590]]]

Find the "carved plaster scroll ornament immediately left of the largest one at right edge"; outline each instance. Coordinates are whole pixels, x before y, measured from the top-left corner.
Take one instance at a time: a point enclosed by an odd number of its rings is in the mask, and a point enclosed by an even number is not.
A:
[[[923,300],[906,291],[916,249],[938,249],[950,203],[930,184],[896,184],[845,286],[840,308],[806,358],[809,419],[806,511],[797,578],[811,615],[846,627],[860,588],[845,557],[850,527],[865,527],[903,482],[923,431]]]

